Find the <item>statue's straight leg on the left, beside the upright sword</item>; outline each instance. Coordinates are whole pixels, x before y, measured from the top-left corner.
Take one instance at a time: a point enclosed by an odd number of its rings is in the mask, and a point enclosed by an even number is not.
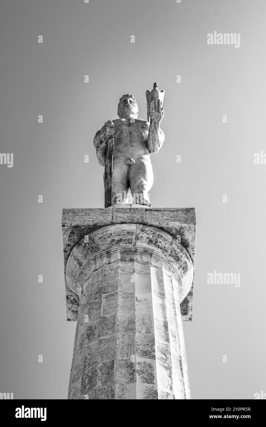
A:
[[[126,164],[126,158],[113,158],[112,205],[126,203],[129,190],[128,170],[129,165]]]

